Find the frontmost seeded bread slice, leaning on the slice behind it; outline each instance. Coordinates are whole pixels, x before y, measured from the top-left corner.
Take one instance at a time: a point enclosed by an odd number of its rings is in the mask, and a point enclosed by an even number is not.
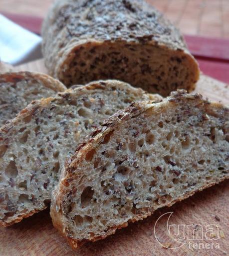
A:
[[[51,217],[76,248],[226,178],[229,109],[178,91],[119,111],[78,147]]]

